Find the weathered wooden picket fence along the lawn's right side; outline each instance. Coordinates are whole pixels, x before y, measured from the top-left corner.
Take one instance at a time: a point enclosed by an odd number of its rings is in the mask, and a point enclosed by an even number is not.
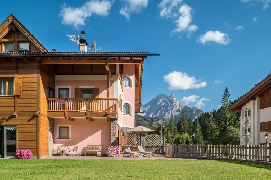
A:
[[[271,146],[269,145],[165,144],[164,153],[172,157],[207,156],[271,161]]]

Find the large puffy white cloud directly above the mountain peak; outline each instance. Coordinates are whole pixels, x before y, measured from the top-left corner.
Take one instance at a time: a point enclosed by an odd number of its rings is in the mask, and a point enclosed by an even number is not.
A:
[[[173,71],[172,73],[165,75],[164,81],[169,84],[169,90],[199,89],[207,86],[205,81],[196,79],[194,76],[190,77],[188,74],[179,71]]]

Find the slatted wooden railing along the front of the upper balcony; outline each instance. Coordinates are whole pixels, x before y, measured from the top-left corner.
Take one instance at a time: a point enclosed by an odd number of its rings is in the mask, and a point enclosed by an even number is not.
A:
[[[52,112],[116,112],[118,99],[47,98],[48,111]]]

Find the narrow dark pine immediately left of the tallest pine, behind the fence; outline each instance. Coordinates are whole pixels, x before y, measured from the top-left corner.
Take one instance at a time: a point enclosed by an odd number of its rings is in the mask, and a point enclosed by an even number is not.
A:
[[[207,118],[205,123],[206,123],[205,140],[207,141],[208,144],[216,144],[218,139],[218,130],[212,112],[210,113],[209,118]]]

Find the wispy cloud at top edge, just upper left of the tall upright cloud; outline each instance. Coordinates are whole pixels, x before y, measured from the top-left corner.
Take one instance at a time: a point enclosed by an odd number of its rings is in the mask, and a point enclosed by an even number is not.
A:
[[[182,0],[162,0],[158,7],[160,8],[160,17],[162,18],[172,18],[177,17],[178,6]]]

